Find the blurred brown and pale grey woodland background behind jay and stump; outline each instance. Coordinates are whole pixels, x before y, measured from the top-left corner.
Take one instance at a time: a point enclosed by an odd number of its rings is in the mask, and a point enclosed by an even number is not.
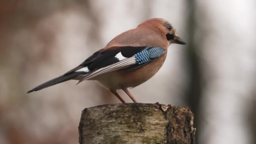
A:
[[[26,91],[155,17],[187,45],[171,45],[160,71],[131,93],[143,103],[191,107],[196,144],[256,144],[255,0],[0,3],[0,144],[77,144],[81,111],[120,101],[93,81]]]

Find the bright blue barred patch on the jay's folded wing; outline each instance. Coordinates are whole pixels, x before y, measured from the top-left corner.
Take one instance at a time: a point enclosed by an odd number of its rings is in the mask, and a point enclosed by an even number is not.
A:
[[[149,48],[146,47],[139,53],[135,54],[135,60],[138,64],[145,64],[152,61],[165,53],[165,49],[161,47]]]

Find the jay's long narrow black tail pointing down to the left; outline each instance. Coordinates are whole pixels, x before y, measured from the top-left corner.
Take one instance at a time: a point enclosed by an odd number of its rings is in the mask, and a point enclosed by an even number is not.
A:
[[[33,88],[32,90],[27,91],[27,93],[31,93],[33,91],[39,91],[39,90],[41,90],[43,88],[47,88],[49,86],[65,82],[67,80],[72,80],[72,79],[74,79],[76,77],[79,77],[80,75],[84,75],[84,74],[85,74],[85,72],[71,72],[69,74],[64,74],[64,75],[61,75],[59,77],[56,77],[56,78],[54,78],[52,80],[49,80],[49,81],[47,81],[45,83],[42,83],[42,84],[38,85],[37,87]]]

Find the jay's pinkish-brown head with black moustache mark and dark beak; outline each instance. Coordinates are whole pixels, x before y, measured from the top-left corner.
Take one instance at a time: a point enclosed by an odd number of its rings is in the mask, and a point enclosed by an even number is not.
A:
[[[185,45],[186,43],[182,40],[179,35],[176,33],[176,29],[173,27],[169,21],[160,18],[148,19],[143,23],[139,24],[138,27],[147,27],[152,29],[158,34],[162,35],[168,40],[168,43],[177,43]]]

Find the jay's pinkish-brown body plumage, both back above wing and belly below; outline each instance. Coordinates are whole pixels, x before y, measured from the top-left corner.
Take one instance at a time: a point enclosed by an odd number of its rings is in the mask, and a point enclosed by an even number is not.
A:
[[[135,29],[117,35],[104,48],[104,50],[119,46],[148,46],[165,48],[163,56],[155,59],[150,64],[140,67],[130,72],[121,72],[121,70],[105,73],[94,77],[92,80],[98,80],[104,87],[112,90],[121,88],[136,87],[146,82],[154,76],[162,67],[168,48],[168,40],[165,38],[167,31],[164,29],[164,19],[149,19],[139,24]],[[132,78],[131,78],[132,77]]]

